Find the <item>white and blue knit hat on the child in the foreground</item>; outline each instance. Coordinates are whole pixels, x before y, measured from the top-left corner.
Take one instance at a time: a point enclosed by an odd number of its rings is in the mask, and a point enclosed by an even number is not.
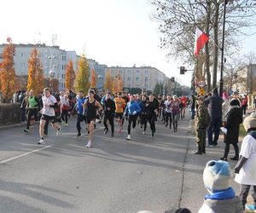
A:
[[[223,160],[210,160],[204,170],[203,180],[210,193],[228,189],[231,181],[230,164]]]

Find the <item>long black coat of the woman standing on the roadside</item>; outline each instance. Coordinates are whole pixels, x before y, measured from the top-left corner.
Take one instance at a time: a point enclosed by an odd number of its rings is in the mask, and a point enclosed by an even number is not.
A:
[[[242,122],[241,108],[233,108],[228,112],[227,123],[225,128],[228,130],[224,135],[224,143],[238,143],[239,126]]]

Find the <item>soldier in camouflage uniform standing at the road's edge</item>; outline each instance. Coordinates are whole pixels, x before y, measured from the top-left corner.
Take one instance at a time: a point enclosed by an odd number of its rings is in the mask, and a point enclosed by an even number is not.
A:
[[[198,108],[195,115],[195,136],[197,152],[195,154],[206,153],[207,127],[210,123],[210,116],[204,103],[204,97],[197,98]]]

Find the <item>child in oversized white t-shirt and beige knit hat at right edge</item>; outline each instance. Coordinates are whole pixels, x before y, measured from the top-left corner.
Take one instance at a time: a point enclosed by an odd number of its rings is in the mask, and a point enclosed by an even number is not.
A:
[[[247,195],[250,187],[253,187],[254,205],[250,206],[256,212],[256,113],[244,119],[243,126],[247,131],[241,143],[240,159],[235,167],[235,181],[241,184],[240,199],[243,209],[247,204]]]

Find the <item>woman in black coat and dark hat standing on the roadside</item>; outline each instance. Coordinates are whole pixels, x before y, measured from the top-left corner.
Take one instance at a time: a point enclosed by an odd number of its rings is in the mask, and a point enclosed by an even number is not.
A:
[[[230,111],[227,112],[227,122],[225,128],[227,129],[227,134],[224,135],[224,157],[222,160],[228,160],[228,154],[230,153],[230,144],[233,145],[235,149],[235,157],[230,158],[231,160],[238,160],[239,149],[238,149],[238,137],[239,137],[239,126],[242,122],[242,112],[239,107],[239,101],[236,99],[230,101]]]

